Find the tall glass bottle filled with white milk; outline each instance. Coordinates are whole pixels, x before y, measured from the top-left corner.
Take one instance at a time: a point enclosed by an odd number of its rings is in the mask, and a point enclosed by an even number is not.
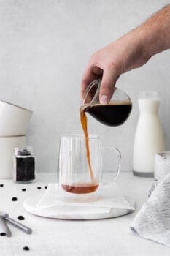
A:
[[[158,116],[158,91],[143,91],[138,102],[140,116],[134,138],[133,173],[135,176],[153,177],[155,154],[165,151]]]

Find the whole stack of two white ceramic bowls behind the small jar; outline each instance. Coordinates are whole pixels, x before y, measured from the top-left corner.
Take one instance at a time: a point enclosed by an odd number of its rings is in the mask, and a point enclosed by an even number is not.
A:
[[[31,110],[0,101],[0,178],[12,178],[15,147],[26,146]]]

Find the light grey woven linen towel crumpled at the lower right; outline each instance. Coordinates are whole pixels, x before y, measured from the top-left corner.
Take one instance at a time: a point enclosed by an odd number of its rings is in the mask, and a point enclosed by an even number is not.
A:
[[[131,230],[170,246],[170,173],[152,185],[149,196],[131,223]]]

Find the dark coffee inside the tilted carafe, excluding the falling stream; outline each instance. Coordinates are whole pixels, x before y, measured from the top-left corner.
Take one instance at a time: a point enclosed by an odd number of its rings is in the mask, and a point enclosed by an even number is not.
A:
[[[96,118],[102,124],[115,127],[123,124],[131,113],[131,101],[114,101],[109,102],[108,105],[101,105],[99,103],[94,105],[83,105],[81,110],[87,112],[90,116]]]

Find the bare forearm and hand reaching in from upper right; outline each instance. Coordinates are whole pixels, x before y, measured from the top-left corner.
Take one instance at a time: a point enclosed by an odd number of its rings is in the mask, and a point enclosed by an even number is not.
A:
[[[151,56],[169,48],[170,4],[141,26],[93,54],[82,76],[81,94],[92,80],[102,78],[100,101],[107,104],[121,74],[141,67]]]

